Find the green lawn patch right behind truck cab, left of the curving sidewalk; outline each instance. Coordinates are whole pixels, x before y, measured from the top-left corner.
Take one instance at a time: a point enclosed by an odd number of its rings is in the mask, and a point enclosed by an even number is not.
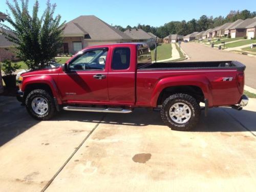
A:
[[[155,60],[155,49],[151,51],[152,60]],[[168,59],[172,57],[171,44],[159,44],[157,46],[157,60]]]

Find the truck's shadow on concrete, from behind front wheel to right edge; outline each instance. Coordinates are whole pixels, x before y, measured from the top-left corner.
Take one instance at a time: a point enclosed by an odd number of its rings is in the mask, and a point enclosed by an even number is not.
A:
[[[87,116],[90,114],[90,118]],[[60,112],[53,120],[70,120],[82,122],[97,122],[92,119],[89,112]],[[95,113],[99,114],[99,113]],[[113,125],[129,125],[145,127],[147,125],[165,126],[161,120],[160,112],[148,111],[145,109],[135,109],[130,114],[102,114],[105,115],[101,123]],[[95,116],[96,117],[96,116]],[[256,131],[256,112],[236,111],[231,108],[215,108],[209,110],[208,116],[204,117],[204,111],[198,126],[191,132],[248,132]]]

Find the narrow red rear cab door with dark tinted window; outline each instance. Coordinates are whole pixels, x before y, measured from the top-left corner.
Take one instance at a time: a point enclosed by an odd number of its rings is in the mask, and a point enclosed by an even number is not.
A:
[[[115,45],[112,49],[108,76],[111,103],[135,104],[136,51],[132,50],[136,50],[135,45]]]

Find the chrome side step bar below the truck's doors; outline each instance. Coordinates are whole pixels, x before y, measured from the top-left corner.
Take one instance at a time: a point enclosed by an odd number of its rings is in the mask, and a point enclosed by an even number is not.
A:
[[[132,110],[122,108],[86,108],[82,106],[64,106],[65,111],[103,112],[103,113],[131,113]]]

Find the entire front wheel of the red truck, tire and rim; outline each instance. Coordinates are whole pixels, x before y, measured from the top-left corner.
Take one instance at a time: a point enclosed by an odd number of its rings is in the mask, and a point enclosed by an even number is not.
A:
[[[37,120],[48,120],[56,114],[53,97],[45,90],[33,90],[26,97],[28,113]]]

